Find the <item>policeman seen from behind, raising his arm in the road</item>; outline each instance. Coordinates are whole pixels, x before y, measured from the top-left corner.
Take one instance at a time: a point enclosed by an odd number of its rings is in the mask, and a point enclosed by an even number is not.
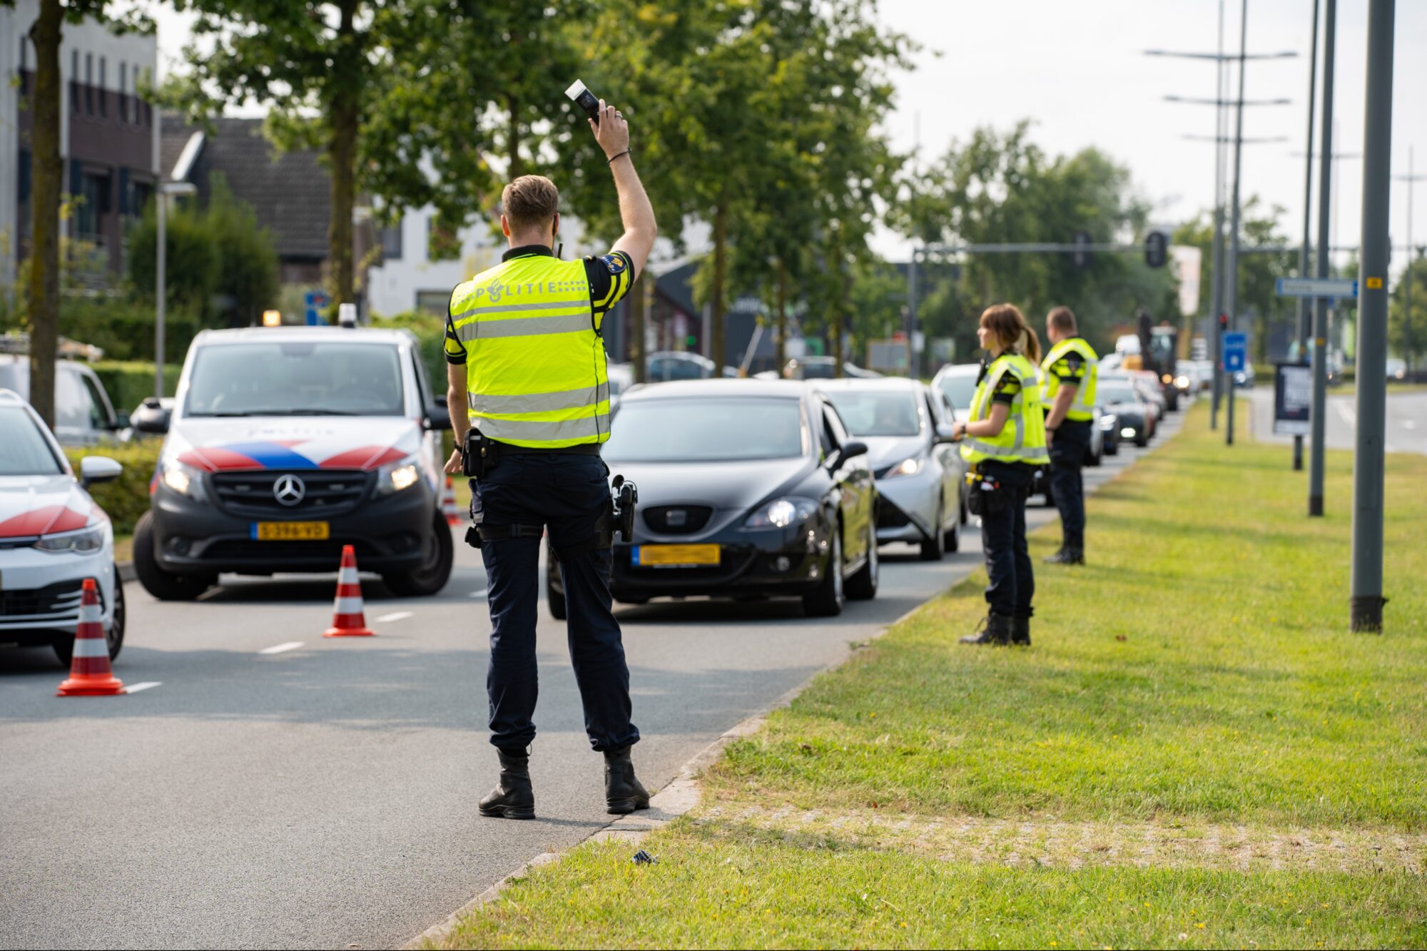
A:
[[[605,807],[614,814],[649,807],[629,757],[639,731],[611,610],[614,525],[599,446],[609,438],[604,316],[644,268],[655,223],[624,116],[601,101],[589,126],[609,158],[624,237],[602,257],[559,260],[559,191],[541,176],[517,178],[501,196],[509,250],[451,293],[447,316],[447,407],[457,451],[445,471],[472,476],[475,527],[467,540],[479,544],[491,611],[485,683],[501,777],[479,802],[489,817],[535,817],[529,745],[542,535],[565,585],[585,731],[605,755]]]

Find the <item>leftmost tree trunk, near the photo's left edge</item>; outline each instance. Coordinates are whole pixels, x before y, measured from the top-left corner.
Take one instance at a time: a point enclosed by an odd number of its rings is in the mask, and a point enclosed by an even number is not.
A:
[[[30,133],[30,406],[54,427],[54,357],[60,333],[60,0],[40,0],[34,43],[34,126]],[[13,96],[14,93],[7,91]],[[7,186],[9,187],[9,186]]]

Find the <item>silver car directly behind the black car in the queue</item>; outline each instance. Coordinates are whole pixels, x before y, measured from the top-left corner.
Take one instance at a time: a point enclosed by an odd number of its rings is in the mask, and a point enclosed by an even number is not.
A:
[[[960,547],[966,463],[952,416],[925,383],[903,377],[818,380],[848,431],[868,444],[878,480],[878,544],[909,541],[925,561]]]

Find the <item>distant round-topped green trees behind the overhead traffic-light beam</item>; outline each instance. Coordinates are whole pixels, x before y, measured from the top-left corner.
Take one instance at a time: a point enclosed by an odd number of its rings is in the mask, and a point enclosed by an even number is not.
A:
[[[895,220],[923,244],[1070,241],[1086,231],[1096,243],[1133,243],[1149,208],[1133,193],[1129,170],[1097,149],[1047,156],[1030,140],[1030,123],[1006,133],[977,129],[928,170],[905,176]],[[1035,326],[1066,304],[1082,333],[1107,346],[1134,308],[1177,318],[1169,268],[1149,268],[1137,254],[1095,254],[1077,268],[1067,253],[955,254],[959,267],[926,268],[918,317],[928,336],[956,338],[958,353],[976,347],[976,318],[989,304],[1010,301]],[[920,270],[920,268],[919,268]]]

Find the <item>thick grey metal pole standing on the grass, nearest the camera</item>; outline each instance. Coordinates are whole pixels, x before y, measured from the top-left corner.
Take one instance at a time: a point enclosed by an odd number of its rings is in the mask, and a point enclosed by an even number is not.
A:
[[[1387,411],[1387,207],[1393,178],[1394,0],[1367,7],[1363,263],[1357,304],[1357,453],[1353,456],[1354,631],[1383,630],[1383,440]]]

